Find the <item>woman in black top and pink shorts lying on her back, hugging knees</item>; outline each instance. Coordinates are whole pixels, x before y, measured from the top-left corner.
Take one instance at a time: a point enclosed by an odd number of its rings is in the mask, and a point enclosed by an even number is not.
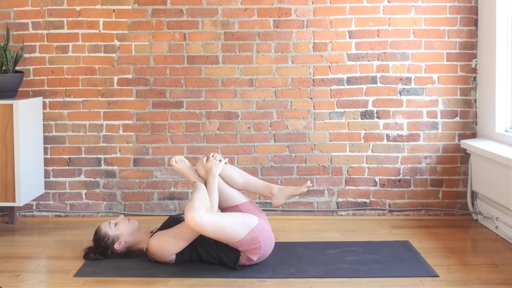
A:
[[[183,156],[171,160],[174,169],[194,186],[184,214],[171,215],[154,231],[120,216],[98,226],[93,245],[83,259],[119,258],[142,250],[162,263],[209,263],[238,269],[260,263],[274,249],[274,233],[264,212],[241,193],[271,199],[279,207],[311,187],[278,186],[252,177],[211,153],[196,168]]]

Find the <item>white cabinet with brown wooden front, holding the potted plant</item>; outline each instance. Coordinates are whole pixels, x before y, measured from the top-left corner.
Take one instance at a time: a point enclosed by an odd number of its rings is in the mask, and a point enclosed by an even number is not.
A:
[[[9,222],[21,207],[44,193],[43,99],[0,100],[0,207]]]

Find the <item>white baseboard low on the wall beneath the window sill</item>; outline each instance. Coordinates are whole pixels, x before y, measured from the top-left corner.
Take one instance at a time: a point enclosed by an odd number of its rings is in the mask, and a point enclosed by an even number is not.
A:
[[[512,211],[503,205],[499,205],[498,203],[490,200],[489,198],[485,198],[485,196],[479,195],[477,193],[476,196],[476,211],[481,212],[483,214],[492,215],[494,217],[499,217],[499,219],[506,221],[508,224],[512,224]],[[486,219],[483,216],[478,215],[478,222],[483,224],[483,226],[489,228],[494,233],[497,233],[501,238],[504,238],[508,242],[512,243],[512,228],[506,226],[505,224],[495,220],[495,219]],[[496,228],[499,227],[499,229]],[[501,230],[501,231],[500,231]],[[506,235],[506,234],[508,235]]]

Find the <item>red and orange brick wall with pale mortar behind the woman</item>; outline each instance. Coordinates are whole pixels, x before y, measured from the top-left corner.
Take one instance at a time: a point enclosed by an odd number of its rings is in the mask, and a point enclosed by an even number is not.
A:
[[[267,181],[314,182],[285,207],[466,209],[477,11],[0,0],[1,30],[26,43],[20,94],[45,100],[46,193],[24,208],[184,210],[191,187],[170,157],[219,152]]]

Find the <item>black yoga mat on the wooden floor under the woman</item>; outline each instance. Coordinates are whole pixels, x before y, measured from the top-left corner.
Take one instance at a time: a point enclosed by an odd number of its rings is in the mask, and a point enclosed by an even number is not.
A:
[[[74,277],[356,278],[438,277],[409,241],[276,242],[261,263],[232,270],[140,257],[86,261]]]

